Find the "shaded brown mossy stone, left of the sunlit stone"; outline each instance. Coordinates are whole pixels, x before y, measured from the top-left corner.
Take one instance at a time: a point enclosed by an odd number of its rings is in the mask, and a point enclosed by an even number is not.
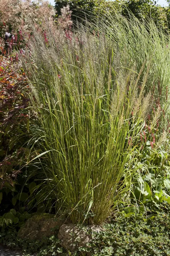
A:
[[[28,219],[25,225],[20,228],[18,237],[22,239],[41,240],[43,237],[50,237],[57,234],[63,223],[64,221],[55,218],[55,215],[36,214]]]

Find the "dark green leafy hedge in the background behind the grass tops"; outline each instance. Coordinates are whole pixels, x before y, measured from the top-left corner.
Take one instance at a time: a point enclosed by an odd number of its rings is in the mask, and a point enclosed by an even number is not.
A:
[[[169,26],[169,8],[162,7],[153,0],[127,0],[127,1],[82,1],[82,0],[55,0],[55,10],[60,15],[61,8],[69,5],[72,11],[72,20],[81,20],[86,17],[92,20],[92,17],[104,16],[107,19],[108,12],[114,16],[115,12],[130,18],[131,13],[140,21],[144,19],[154,20],[157,26],[167,29]]]

